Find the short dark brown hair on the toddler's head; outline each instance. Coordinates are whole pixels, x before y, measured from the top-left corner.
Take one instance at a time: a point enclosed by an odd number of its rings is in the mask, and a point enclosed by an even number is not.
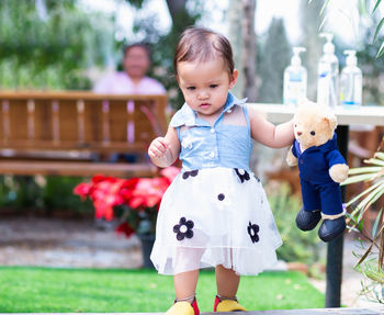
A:
[[[222,34],[204,27],[189,27],[180,36],[173,57],[174,75],[178,76],[178,63],[206,61],[221,56],[228,74],[235,69],[229,41]]]

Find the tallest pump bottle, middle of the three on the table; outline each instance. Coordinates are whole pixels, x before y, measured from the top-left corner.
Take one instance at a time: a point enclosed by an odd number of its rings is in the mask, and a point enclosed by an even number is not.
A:
[[[324,45],[324,55],[318,63],[317,102],[329,108],[335,108],[339,99],[339,60],[335,55],[334,35],[321,33],[320,37],[326,37],[327,43]]]

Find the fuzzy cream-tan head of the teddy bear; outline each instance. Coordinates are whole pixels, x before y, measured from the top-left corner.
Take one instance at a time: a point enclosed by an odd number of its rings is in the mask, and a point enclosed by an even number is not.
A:
[[[328,108],[309,101],[300,104],[293,122],[295,138],[303,148],[325,144],[337,127],[336,116]]]

